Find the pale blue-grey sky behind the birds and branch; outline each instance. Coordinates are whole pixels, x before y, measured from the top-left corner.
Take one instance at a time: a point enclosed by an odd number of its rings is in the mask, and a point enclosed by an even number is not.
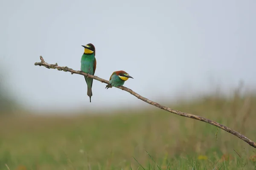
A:
[[[8,86],[32,110],[147,106],[117,88],[35,66],[42,55],[79,70],[96,47],[96,76],[124,70],[125,86],[161,102],[256,85],[255,0],[2,0],[0,61]],[[69,99],[69,100],[67,100]],[[167,100],[166,100],[167,101]]]

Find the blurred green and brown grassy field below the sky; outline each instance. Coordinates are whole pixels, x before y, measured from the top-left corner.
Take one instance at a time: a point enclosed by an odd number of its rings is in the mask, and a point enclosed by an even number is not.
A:
[[[169,107],[256,141],[256,97],[212,96]],[[0,170],[256,170],[256,149],[215,126],[153,106],[115,112],[1,117]]]

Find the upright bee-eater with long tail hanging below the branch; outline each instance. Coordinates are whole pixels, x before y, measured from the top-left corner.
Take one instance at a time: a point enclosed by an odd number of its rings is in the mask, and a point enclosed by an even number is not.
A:
[[[87,45],[82,45],[82,47],[84,47],[84,54],[81,57],[81,71],[94,75],[96,70],[95,47],[91,43]],[[93,79],[86,76],[84,76],[84,78],[87,84],[87,95],[90,97],[91,102],[91,97],[93,95]]]

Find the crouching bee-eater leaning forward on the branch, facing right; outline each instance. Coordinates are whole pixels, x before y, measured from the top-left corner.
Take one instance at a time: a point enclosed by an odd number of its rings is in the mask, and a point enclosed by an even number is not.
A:
[[[113,74],[111,75],[109,82],[110,84],[106,85],[105,88],[112,88],[120,86],[120,85],[124,85],[125,81],[128,80],[129,78],[132,78],[128,73],[126,73],[125,71],[114,71]]]

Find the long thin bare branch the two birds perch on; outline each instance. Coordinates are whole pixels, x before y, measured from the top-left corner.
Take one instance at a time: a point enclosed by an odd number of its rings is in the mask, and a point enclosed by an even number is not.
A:
[[[71,72],[71,74],[81,74],[83,76],[87,76],[87,77],[90,77],[92,79],[96,79],[100,82],[104,82],[106,84],[109,84],[109,81],[108,80],[105,80],[105,79],[102,79],[102,78],[99,78],[97,76],[93,76],[93,75],[90,75],[90,74],[87,74],[87,73],[84,73],[83,71],[76,71],[76,70],[73,70],[72,68],[68,68],[67,66],[66,67],[61,67],[61,66],[58,66],[58,64],[48,64],[47,62],[44,61],[43,57],[40,56],[40,59],[41,59],[41,62],[35,62],[35,65],[39,65],[39,66],[44,66],[46,68],[53,68],[53,69],[57,69],[59,71],[68,71],[68,72]],[[181,112],[181,111],[175,111],[171,108],[168,108],[168,107],[165,107],[163,105],[160,105],[158,104],[157,102],[153,102],[143,96],[140,96],[139,94],[135,93],[134,91],[132,91],[131,89],[129,88],[126,88],[124,86],[118,86],[117,88],[120,88],[124,91],[127,91],[129,92],[130,94],[134,95],[135,97],[137,97],[138,99],[141,99],[143,100],[144,102],[147,102],[148,104],[150,105],[153,105],[153,106],[156,106],[157,108],[160,108],[160,109],[163,109],[165,111],[168,111],[168,112],[171,112],[171,113],[174,113],[174,114],[177,114],[177,115],[180,115],[180,116],[184,116],[184,117],[188,117],[188,118],[192,118],[192,119],[196,119],[196,120],[200,120],[202,122],[206,122],[206,123],[209,123],[211,125],[214,125],[216,127],[219,127],[233,135],[235,135],[236,137],[239,137],[240,139],[242,139],[244,142],[250,144],[250,146],[256,148],[256,143],[253,142],[252,140],[248,139],[247,137],[245,137],[244,135],[242,135],[241,133],[238,133],[237,131],[233,130],[233,129],[230,129],[229,127],[227,126],[224,126],[224,125],[221,125],[220,123],[218,122],[214,122],[210,119],[206,119],[204,117],[201,117],[201,116],[197,116],[197,115],[193,115],[193,114],[189,114],[189,113],[184,113],[184,112]]]

